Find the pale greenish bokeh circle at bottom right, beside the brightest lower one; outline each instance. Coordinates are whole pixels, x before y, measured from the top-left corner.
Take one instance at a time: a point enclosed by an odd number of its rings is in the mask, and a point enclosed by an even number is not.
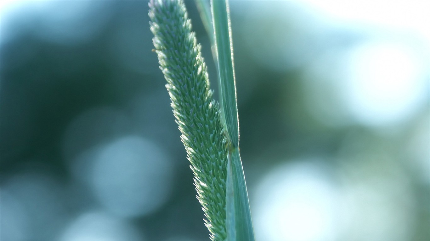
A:
[[[411,240],[418,210],[404,165],[379,149],[351,155],[338,171],[343,177],[343,216],[347,224],[341,240]]]

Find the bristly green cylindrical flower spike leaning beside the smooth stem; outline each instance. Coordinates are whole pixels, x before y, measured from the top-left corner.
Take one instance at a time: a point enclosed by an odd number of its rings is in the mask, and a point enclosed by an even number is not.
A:
[[[151,0],[151,31],[212,241],[225,241],[227,139],[182,0]]]

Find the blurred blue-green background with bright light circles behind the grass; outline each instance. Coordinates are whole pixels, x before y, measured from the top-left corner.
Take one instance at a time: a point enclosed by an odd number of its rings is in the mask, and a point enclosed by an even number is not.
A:
[[[0,9],[0,240],[209,240],[147,2]],[[430,240],[429,9],[230,1],[257,240]]]

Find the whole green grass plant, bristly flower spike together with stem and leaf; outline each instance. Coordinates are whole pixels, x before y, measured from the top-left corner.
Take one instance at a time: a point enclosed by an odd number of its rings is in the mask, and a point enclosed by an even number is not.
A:
[[[199,3],[199,2],[198,2]],[[194,172],[197,198],[213,241],[252,241],[249,201],[239,155],[239,123],[228,6],[211,1],[212,20],[200,2],[212,39],[220,105],[209,88],[206,64],[182,0],[151,0],[151,31],[160,69]],[[212,27],[209,22],[212,22]]]

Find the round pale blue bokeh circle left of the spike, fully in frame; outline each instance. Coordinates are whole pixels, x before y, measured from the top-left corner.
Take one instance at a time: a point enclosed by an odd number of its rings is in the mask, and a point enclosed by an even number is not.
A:
[[[90,186],[109,211],[123,217],[149,214],[169,198],[172,163],[152,142],[124,136],[94,155]]]

